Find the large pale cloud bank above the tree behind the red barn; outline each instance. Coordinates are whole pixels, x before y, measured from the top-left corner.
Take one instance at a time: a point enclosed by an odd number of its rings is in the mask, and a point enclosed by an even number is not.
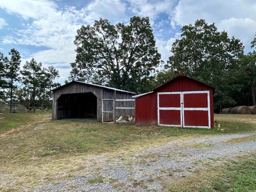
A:
[[[255,0],[180,0],[170,14],[174,28],[194,24],[198,19],[215,23],[219,31],[240,39],[246,51],[256,32]]]

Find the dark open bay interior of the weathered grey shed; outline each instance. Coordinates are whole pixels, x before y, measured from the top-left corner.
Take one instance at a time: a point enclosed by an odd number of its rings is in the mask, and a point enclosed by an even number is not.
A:
[[[62,94],[57,108],[58,119],[97,118],[97,97],[92,92]]]

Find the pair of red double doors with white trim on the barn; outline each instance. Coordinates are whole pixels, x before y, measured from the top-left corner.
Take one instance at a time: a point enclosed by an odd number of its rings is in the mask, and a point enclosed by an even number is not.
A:
[[[158,125],[211,128],[210,91],[158,92]]]

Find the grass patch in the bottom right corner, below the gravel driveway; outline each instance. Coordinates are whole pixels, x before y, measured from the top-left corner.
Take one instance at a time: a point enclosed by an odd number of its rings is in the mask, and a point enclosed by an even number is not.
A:
[[[165,184],[168,192],[255,192],[256,153],[236,160],[216,160],[218,166],[191,173],[176,182]]]

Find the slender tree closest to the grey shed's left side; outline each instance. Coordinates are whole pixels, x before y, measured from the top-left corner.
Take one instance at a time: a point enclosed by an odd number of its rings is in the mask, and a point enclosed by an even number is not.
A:
[[[59,83],[53,82],[53,80],[58,77],[60,77],[59,72],[53,66],[49,66],[48,68],[42,69],[42,73],[39,78],[39,83],[40,83],[39,97],[42,99],[41,111],[44,110],[44,100],[46,98],[47,93],[50,92],[50,89],[60,86]]]

